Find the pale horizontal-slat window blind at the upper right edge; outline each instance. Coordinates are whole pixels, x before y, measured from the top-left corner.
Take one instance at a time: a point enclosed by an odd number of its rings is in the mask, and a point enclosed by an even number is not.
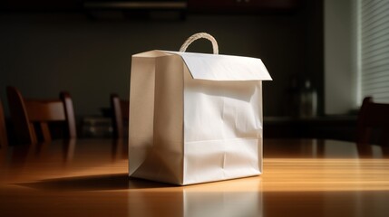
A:
[[[389,103],[389,1],[359,0],[360,96]]]

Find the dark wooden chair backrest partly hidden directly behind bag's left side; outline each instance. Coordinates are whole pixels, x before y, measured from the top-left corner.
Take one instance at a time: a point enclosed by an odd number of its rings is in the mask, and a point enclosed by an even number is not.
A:
[[[128,129],[130,117],[130,101],[120,99],[115,93],[111,94],[111,109],[112,109],[112,135],[115,138],[122,138],[125,135],[125,130]],[[127,127],[125,127],[127,126]]]

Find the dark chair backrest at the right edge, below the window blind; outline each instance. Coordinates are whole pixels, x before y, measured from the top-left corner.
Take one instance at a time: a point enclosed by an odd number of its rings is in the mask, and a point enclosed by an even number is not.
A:
[[[377,130],[379,135],[374,134]],[[364,99],[358,114],[356,143],[389,145],[389,104],[375,103],[371,97]]]

